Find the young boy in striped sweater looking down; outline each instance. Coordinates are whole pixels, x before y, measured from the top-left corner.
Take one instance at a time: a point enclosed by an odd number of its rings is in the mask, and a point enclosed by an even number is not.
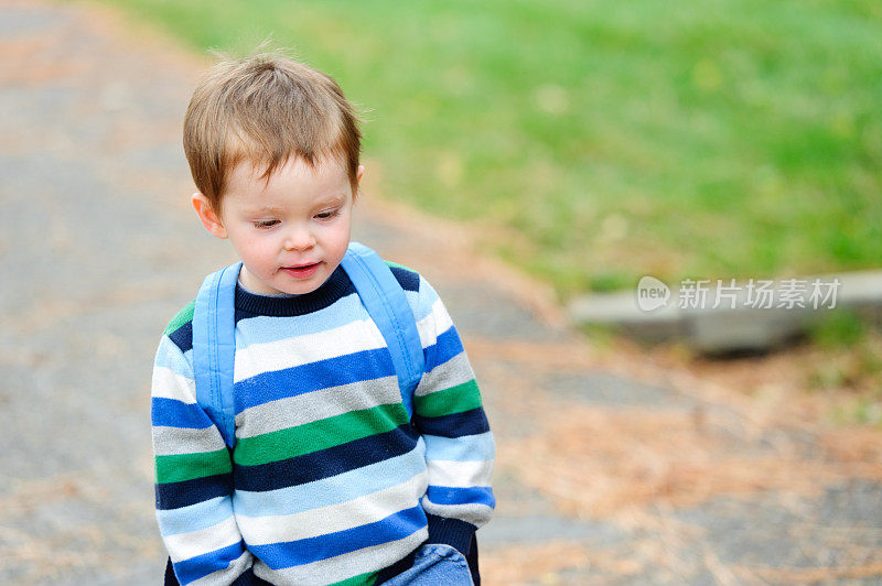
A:
[[[220,63],[190,102],[193,207],[243,261],[236,444],[196,401],[191,303],[152,382],[168,582],[478,582],[494,444],[456,329],[422,276],[391,265],[426,360],[408,421],[390,351],[341,267],[364,173],[356,122],[333,79],[279,55]]]

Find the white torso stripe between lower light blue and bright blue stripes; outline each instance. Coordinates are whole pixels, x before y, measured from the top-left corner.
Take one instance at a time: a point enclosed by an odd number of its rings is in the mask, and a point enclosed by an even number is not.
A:
[[[426,473],[421,471],[405,482],[338,504],[295,514],[236,518],[251,545],[295,541],[380,521],[416,506],[426,488]]]

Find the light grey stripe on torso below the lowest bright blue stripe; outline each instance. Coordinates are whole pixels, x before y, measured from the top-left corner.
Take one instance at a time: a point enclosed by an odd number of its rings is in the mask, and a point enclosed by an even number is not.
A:
[[[379,545],[344,553],[336,557],[276,571],[267,567],[260,560],[255,560],[255,575],[279,586],[302,584],[323,586],[334,584],[366,572],[376,572],[392,565],[416,550],[428,536],[429,531],[423,528],[398,541],[380,543]]]

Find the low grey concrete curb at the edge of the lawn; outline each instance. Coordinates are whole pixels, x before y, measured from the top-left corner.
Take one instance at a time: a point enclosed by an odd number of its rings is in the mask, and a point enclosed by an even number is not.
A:
[[[612,326],[647,341],[682,339],[708,354],[765,351],[843,308],[882,323],[882,271],[701,283],[684,281],[688,286],[675,290],[644,278],[634,291],[581,296],[569,304],[568,314],[583,326]]]

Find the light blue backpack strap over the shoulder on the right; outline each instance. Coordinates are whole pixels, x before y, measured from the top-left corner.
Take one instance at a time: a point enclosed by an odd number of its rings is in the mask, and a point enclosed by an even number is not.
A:
[[[401,400],[412,416],[413,391],[422,378],[426,360],[405,290],[379,254],[358,242],[349,242],[341,264],[389,347]]]

